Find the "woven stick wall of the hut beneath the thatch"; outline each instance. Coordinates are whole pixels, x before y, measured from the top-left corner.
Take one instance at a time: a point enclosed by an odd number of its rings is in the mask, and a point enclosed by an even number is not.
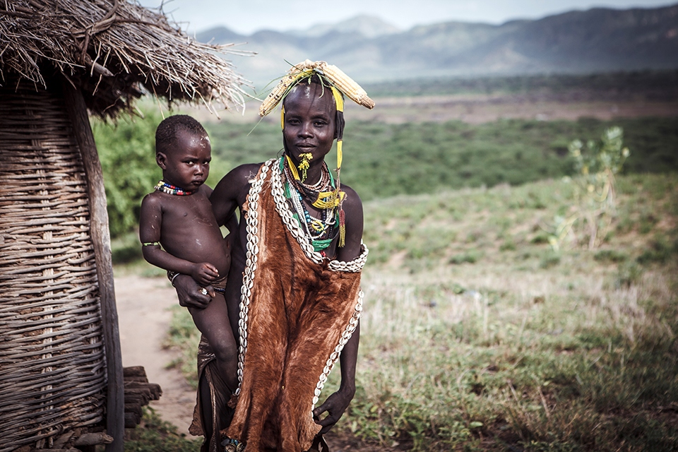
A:
[[[83,163],[63,97],[23,83],[0,88],[0,452],[49,448],[105,405]]]

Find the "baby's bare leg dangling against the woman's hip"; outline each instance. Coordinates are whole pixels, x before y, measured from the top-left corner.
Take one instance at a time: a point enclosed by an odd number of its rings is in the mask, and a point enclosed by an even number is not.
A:
[[[231,392],[235,391],[238,387],[238,346],[228,320],[224,296],[217,292],[205,309],[189,307],[189,312],[212,347],[222,379]]]

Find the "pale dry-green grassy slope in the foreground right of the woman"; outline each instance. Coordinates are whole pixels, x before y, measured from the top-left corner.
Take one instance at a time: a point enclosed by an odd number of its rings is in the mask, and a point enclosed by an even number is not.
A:
[[[676,450],[678,182],[617,189],[617,232],[559,253],[536,238],[568,182],[366,203],[357,393],[335,428],[415,451]],[[662,220],[641,232],[646,209]]]

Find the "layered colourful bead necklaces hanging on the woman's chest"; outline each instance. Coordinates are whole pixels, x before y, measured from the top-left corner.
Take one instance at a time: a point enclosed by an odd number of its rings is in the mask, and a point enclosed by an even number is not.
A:
[[[323,164],[320,180],[313,185],[299,182],[290,170],[289,162],[285,157],[280,159],[280,172],[285,175],[285,198],[292,205],[294,218],[311,239],[314,251],[326,249],[334,239],[335,225],[338,222],[337,209],[334,203],[328,202],[327,199],[330,196],[335,196],[335,191],[333,191],[334,179],[327,165]],[[310,196],[308,196],[309,194]],[[328,196],[319,198],[323,194]],[[323,207],[321,211],[322,218],[311,217],[309,210],[304,206],[304,195],[309,199],[325,202],[326,207]]]

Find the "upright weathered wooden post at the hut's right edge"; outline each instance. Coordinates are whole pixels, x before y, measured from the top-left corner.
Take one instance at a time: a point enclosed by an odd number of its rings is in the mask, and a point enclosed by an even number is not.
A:
[[[73,133],[76,136],[76,141],[83,157],[83,165],[88,182],[90,232],[92,234],[95,262],[97,264],[97,280],[101,300],[108,376],[106,430],[114,439],[111,444],[106,445],[106,452],[123,452],[125,434],[124,381],[118,330],[118,313],[115,306],[115,290],[113,287],[111,238],[108,229],[104,179],[83,94],[80,90],[73,88],[73,85],[67,81],[63,81],[61,86],[64,89],[66,110],[71,118],[71,124],[73,124]]]

